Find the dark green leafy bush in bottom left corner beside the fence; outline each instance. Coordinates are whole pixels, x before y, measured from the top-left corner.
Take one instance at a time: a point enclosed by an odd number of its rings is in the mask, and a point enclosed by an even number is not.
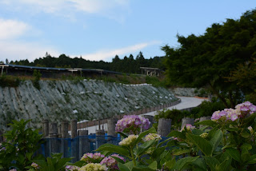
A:
[[[0,151],[0,166],[3,170],[9,170],[10,167],[26,170],[25,167],[34,160],[34,153],[42,143],[42,135],[38,134],[37,129],[27,128],[29,121],[13,121],[10,124],[12,129],[4,134],[6,141],[2,147],[6,149]]]

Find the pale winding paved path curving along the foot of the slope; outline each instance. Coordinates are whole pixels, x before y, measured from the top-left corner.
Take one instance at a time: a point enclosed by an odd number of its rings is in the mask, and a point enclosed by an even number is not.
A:
[[[198,97],[179,97],[178,98],[182,99],[182,102],[180,102],[178,105],[173,105],[170,106],[167,109],[186,109],[186,108],[191,108],[191,107],[196,107],[202,103],[202,101],[205,101],[206,99],[198,98]],[[150,113],[143,113],[142,115],[151,115],[154,116],[158,113],[158,111],[153,111]],[[101,125],[102,126],[102,125]],[[107,130],[107,124],[103,125],[104,129]],[[81,130],[88,130],[88,133],[95,133],[96,129],[98,129],[98,125],[96,126],[90,126],[85,129]]]

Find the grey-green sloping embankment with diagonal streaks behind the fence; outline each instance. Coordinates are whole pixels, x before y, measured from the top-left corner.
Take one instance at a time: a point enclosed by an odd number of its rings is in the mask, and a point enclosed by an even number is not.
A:
[[[32,119],[35,128],[43,119],[63,121],[93,120],[177,100],[169,90],[152,85],[124,85],[96,80],[30,80],[18,87],[0,87],[0,129],[12,119]]]

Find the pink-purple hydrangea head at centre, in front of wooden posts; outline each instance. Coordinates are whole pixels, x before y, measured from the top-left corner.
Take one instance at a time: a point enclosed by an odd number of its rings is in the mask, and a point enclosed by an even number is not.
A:
[[[125,115],[122,119],[118,120],[115,131],[123,132],[126,128],[133,126],[134,129],[149,129],[150,121],[148,118],[138,115]]]

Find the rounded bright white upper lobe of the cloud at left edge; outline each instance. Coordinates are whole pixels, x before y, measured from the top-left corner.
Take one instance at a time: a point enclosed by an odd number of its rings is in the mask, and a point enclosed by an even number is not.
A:
[[[0,40],[18,38],[30,30],[30,26],[16,20],[0,18]]]

